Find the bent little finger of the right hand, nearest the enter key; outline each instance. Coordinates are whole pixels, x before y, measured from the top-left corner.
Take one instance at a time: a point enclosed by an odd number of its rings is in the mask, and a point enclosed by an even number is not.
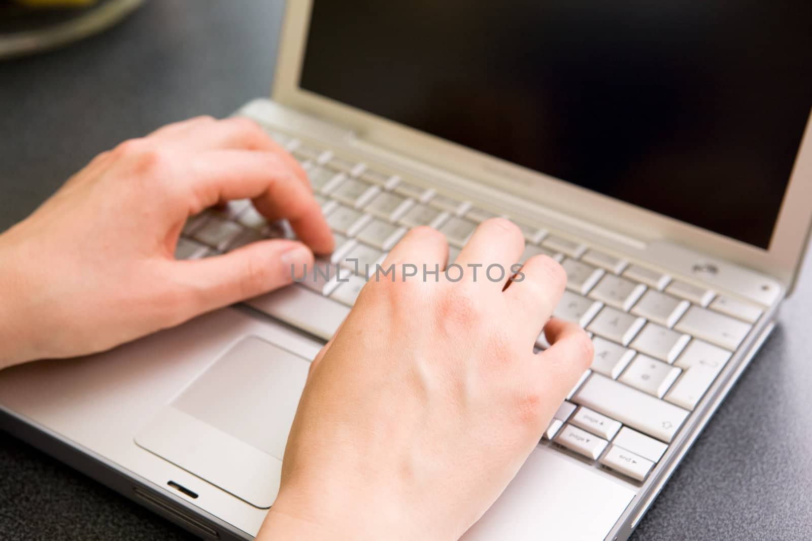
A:
[[[572,322],[554,317],[547,321],[544,333],[551,346],[535,356],[544,389],[558,403],[590,367],[594,348],[584,329]]]

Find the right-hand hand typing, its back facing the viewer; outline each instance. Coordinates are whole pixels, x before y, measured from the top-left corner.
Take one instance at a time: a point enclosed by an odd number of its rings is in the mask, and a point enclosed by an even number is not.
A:
[[[400,241],[382,264],[396,280],[373,277],[313,361],[257,539],[451,541],[485,513],[592,359],[581,328],[548,321],[566,281],[554,260],[530,258],[507,289],[483,276],[523,247],[496,218],[458,256],[459,282],[401,281],[402,264],[444,268],[448,248],[428,228]],[[484,264],[477,281],[468,264]],[[551,347],[533,354],[542,327]]]

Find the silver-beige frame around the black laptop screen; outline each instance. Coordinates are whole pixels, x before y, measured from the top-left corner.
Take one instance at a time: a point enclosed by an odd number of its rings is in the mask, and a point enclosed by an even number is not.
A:
[[[446,170],[584,217],[643,241],[668,240],[761,270],[791,289],[812,225],[812,114],[784,193],[769,247],[763,249],[646,208],[526,169],[472,148],[417,131],[299,87],[312,0],[287,2],[272,98],[352,129],[358,137]],[[541,197],[543,194],[543,200]]]

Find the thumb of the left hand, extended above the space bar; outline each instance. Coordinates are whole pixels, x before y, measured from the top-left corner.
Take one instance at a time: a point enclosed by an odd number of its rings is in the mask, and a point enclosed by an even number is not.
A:
[[[263,240],[224,255],[175,262],[172,276],[188,294],[184,316],[238,303],[292,283],[313,266],[313,252],[292,240]]]

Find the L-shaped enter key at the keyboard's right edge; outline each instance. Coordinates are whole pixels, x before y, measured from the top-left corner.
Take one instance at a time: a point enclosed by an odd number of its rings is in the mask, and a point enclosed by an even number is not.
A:
[[[686,410],[693,410],[716,380],[716,376],[719,376],[728,359],[728,350],[701,340],[692,341],[674,363],[684,371],[665,399]]]

